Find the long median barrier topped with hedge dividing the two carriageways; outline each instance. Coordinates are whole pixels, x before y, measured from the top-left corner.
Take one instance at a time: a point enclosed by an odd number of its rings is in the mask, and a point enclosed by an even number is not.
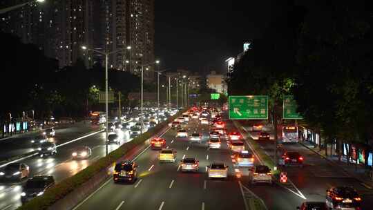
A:
[[[131,142],[119,146],[118,149],[109,153],[106,157],[100,158],[86,169],[77,174],[62,180],[48,189],[43,195],[38,196],[19,207],[19,210],[41,210],[41,209],[73,209],[79,202],[93,193],[100,184],[111,178],[113,163],[128,158],[129,154],[138,154],[148,148],[149,139],[154,135],[160,135],[168,128],[169,122],[182,115],[179,111],[171,116],[169,120],[162,122],[149,129],[146,133],[135,137]],[[147,142],[146,142],[147,141]]]

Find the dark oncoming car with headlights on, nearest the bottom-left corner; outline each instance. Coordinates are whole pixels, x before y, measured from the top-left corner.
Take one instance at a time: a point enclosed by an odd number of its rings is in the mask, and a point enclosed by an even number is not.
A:
[[[34,176],[28,179],[22,188],[21,202],[25,203],[32,200],[32,198],[43,195],[54,184],[55,179],[50,175]]]

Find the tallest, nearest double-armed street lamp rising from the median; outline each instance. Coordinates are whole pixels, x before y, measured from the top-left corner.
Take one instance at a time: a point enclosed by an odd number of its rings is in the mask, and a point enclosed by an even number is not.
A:
[[[83,50],[91,50],[95,53],[99,53],[101,55],[105,55],[105,112],[106,112],[106,135],[105,135],[105,154],[108,155],[108,56],[117,53],[119,51],[122,51],[123,49],[114,50],[112,52],[106,53],[95,49],[87,48],[86,46],[82,46]]]

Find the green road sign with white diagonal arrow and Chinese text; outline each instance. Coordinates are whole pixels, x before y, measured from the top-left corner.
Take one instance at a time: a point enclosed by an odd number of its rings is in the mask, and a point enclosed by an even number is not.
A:
[[[229,95],[228,102],[231,120],[268,119],[267,95]]]

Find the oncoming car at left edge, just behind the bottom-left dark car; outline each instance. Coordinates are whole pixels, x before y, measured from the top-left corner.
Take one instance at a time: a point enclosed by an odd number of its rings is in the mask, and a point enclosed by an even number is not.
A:
[[[30,167],[24,163],[10,163],[7,164],[2,171],[0,171],[1,180],[17,180],[21,181],[23,178],[28,178],[30,175]]]

